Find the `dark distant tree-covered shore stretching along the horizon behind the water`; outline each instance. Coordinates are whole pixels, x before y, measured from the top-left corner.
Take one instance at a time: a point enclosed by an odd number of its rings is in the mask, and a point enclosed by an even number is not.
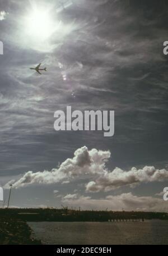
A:
[[[113,212],[113,211],[80,211],[80,209],[54,208],[11,208],[0,209],[0,219],[6,216],[22,221],[143,221],[168,220],[164,212]]]

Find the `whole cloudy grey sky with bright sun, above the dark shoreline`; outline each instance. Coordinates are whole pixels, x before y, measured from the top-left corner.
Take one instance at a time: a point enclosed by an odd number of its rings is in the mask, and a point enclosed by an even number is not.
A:
[[[168,211],[166,1],[0,1],[0,185],[11,207]],[[30,70],[42,63],[42,74]],[[114,110],[115,134],[54,112]],[[2,203],[0,204],[0,207]]]

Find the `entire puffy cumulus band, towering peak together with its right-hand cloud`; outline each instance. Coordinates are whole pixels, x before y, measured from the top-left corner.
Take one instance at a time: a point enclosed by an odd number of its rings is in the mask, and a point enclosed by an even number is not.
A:
[[[113,171],[106,168],[106,161],[110,158],[110,152],[97,149],[88,150],[86,146],[77,149],[73,158],[68,158],[58,168],[52,171],[26,172],[18,181],[8,182],[19,188],[31,184],[54,184],[61,182],[67,184],[74,179],[85,177],[90,179],[86,184],[86,191],[99,192],[118,189],[122,186],[134,187],[142,182],[164,181],[168,179],[168,171],[158,170],[153,166],[145,166],[142,169],[135,167],[124,171],[116,167]]]

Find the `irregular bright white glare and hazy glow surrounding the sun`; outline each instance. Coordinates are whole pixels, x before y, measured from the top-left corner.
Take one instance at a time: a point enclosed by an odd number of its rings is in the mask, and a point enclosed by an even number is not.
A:
[[[30,3],[30,7],[18,19],[17,33],[13,36],[21,47],[51,52],[67,35],[77,29],[74,21],[66,24],[60,18],[54,4],[37,4],[34,0]]]

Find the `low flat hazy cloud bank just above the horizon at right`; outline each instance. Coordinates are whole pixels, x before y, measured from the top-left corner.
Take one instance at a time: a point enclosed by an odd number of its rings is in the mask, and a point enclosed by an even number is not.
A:
[[[162,199],[151,196],[136,196],[132,193],[109,195],[104,199],[92,199],[90,196],[65,196],[62,199],[69,207],[82,209],[106,209],[109,211],[167,211],[168,205]]]

